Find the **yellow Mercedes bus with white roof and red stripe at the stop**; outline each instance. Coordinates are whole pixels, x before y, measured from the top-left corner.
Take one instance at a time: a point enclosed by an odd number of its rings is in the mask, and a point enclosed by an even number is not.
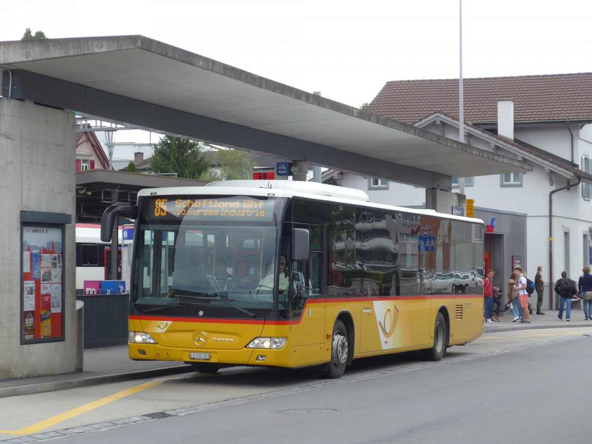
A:
[[[373,204],[355,189],[220,181],[144,189],[102,218],[135,220],[129,355],[223,366],[316,367],[481,336],[481,220]],[[459,288],[462,288],[460,291]]]

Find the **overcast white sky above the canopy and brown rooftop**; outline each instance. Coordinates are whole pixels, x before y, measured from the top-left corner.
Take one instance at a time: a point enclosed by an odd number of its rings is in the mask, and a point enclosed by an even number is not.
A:
[[[590,0],[463,0],[463,76],[592,72],[591,20]],[[7,2],[0,41],[27,27],[141,34],[355,107],[388,81],[459,77],[459,0]]]

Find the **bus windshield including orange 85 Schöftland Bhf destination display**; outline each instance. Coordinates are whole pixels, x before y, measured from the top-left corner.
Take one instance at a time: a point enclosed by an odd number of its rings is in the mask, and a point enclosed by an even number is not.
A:
[[[165,316],[261,317],[260,286],[278,242],[274,199],[146,199],[134,255],[133,303]]]

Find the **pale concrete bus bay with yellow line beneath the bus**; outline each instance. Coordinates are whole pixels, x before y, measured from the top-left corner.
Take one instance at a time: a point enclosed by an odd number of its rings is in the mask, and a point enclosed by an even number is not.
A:
[[[182,416],[221,406],[265,400],[284,394],[314,391],[478,358],[522,353],[532,348],[585,338],[592,326],[562,329],[514,329],[488,332],[465,347],[453,347],[440,363],[415,361],[413,355],[358,359],[344,378],[277,369],[228,368],[218,375],[194,372],[103,384],[39,394],[0,398],[0,440],[30,442],[52,436],[83,433],[157,417]],[[121,349],[117,352],[121,352]],[[99,350],[95,350],[99,351]],[[111,352],[114,352],[111,349]],[[99,355],[102,353],[98,353]],[[181,368],[184,369],[184,368]],[[502,371],[503,374],[503,371]],[[22,440],[21,440],[22,439]]]

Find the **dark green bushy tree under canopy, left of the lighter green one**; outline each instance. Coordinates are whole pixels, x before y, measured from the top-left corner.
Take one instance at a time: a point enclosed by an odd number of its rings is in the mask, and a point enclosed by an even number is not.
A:
[[[197,142],[163,136],[154,146],[150,169],[154,173],[177,173],[178,177],[197,179],[210,168],[210,162],[200,152]]]

